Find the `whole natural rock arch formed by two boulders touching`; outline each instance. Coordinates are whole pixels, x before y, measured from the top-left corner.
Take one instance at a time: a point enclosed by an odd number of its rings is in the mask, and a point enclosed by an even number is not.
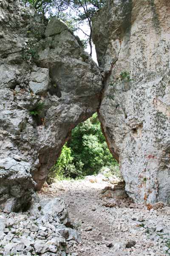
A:
[[[167,0],[107,1],[94,16],[99,70],[64,23],[1,3],[1,207],[31,201],[96,110],[128,194],[170,203],[169,14]]]

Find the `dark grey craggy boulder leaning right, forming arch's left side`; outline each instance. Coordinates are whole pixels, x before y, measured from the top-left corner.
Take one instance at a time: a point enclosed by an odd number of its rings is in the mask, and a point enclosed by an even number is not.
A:
[[[101,89],[98,67],[64,23],[0,0],[1,207],[27,205]]]

